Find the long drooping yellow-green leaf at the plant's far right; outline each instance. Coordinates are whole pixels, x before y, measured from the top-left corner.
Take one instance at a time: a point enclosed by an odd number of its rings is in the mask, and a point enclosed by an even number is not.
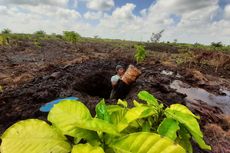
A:
[[[165,110],[165,115],[183,124],[202,149],[211,150],[211,147],[204,142],[199,123],[193,115],[175,110],[171,107]]]

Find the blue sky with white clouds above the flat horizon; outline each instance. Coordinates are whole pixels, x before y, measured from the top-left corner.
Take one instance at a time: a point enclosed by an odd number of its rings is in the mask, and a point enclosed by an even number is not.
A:
[[[230,45],[230,0],[0,0],[0,30]]]

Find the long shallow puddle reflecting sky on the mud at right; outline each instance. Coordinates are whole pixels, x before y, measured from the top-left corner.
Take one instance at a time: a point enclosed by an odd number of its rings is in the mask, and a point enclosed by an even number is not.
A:
[[[230,91],[222,89],[224,96],[216,96],[201,88],[193,88],[190,85],[180,81],[174,80],[170,87],[176,89],[177,92],[186,94],[188,102],[196,102],[201,100],[211,106],[219,107],[225,114],[230,114]]]

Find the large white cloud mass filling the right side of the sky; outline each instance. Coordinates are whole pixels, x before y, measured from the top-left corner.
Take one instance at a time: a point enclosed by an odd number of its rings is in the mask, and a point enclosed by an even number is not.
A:
[[[190,43],[229,43],[226,37],[229,22],[213,21],[220,9],[217,0],[158,0],[141,11],[141,16],[133,14],[134,8],[134,4],[116,8],[112,15],[100,20],[97,33],[112,38],[149,40],[152,32],[165,29],[162,38],[165,41],[177,38]],[[172,15],[180,19],[175,21]]]

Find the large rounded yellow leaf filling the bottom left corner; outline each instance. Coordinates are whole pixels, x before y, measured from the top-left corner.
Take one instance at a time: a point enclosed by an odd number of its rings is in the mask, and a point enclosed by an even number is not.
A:
[[[15,123],[1,139],[1,153],[68,153],[71,150],[57,129],[37,119]]]

